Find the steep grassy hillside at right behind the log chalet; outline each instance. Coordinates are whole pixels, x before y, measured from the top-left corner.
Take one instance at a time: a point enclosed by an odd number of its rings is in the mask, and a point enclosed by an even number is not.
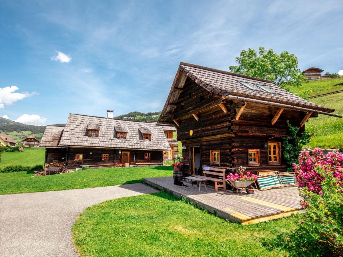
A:
[[[310,97],[343,90],[343,78],[322,79],[304,82],[294,91],[311,89]],[[309,101],[328,108],[335,109],[336,114],[343,115],[343,93],[311,98]],[[310,118],[305,124],[305,130],[313,133],[306,147],[324,149],[343,147],[343,119],[319,114],[318,118]]]

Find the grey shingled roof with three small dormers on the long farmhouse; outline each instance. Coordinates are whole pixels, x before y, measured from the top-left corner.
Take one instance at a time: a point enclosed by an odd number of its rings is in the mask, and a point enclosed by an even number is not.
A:
[[[88,124],[99,124],[98,137],[88,136]],[[164,130],[176,131],[173,126],[161,126],[156,122],[117,120],[69,114],[59,146],[170,150]],[[126,139],[117,138],[117,131],[127,132]],[[149,131],[151,140],[143,140],[140,131]]]

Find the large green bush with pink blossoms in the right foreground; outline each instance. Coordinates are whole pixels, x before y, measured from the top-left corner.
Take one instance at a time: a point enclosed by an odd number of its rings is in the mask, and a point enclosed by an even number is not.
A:
[[[265,246],[285,250],[290,256],[342,256],[343,254],[343,155],[322,154],[316,148],[299,155],[294,164],[302,205],[306,213],[298,228],[274,238],[263,238]]]

